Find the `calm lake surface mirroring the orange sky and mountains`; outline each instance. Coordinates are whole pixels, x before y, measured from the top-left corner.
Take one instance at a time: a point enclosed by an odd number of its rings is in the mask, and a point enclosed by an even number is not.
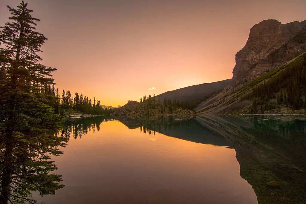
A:
[[[45,203],[306,203],[300,117],[65,122],[53,157],[64,188]],[[274,185],[274,186],[273,186]]]

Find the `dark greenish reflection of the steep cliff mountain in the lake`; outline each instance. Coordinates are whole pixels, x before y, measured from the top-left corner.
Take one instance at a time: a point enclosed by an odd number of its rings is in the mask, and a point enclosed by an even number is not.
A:
[[[306,202],[304,117],[203,116],[196,120],[234,144],[241,176],[258,203]]]

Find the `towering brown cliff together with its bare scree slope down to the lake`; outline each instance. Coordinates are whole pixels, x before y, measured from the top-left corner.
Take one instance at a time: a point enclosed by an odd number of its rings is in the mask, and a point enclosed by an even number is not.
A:
[[[250,91],[249,89],[252,89],[255,84],[258,85],[259,81],[273,80],[278,68],[304,52],[306,52],[306,20],[287,24],[282,24],[277,20],[264,20],[254,25],[250,30],[247,43],[236,54],[232,83],[217,95],[201,102],[196,107],[196,112],[234,113],[250,106],[251,102],[247,100],[240,101],[239,104],[233,103],[234,99],[241,100],[237,98],[237,95],[235,96],[235,93],[239,92],[241,96],[241,87],[244,87],[244,91]],[[301,71],[303,68],[299,67],[298,70]],[[288,74],[292,75],[291,72]],[[264,77],[259,79],[261,76]],[[248,87],[250,84],[252,87]],[[282,90],[282,93],[288,94],[287,91]],[[276,93],[273,95],[274,98]],[[233,107],[233,104],[237,106]]]

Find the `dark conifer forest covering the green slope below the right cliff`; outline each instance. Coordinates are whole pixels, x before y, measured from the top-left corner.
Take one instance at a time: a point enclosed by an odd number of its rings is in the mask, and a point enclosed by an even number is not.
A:
[[[280,73],[257,85],[244,99],[253,99],[249,113],[260,113],[279,106],[306,108],[306,54],[280,68]],[[271,100],[273,99],[273,100]]]

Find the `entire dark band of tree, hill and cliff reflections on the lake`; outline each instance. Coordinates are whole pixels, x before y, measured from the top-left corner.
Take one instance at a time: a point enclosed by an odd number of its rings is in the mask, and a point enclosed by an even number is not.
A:
[[[90,131],[99,131],[102,123],[114,120],[119,119],[67,120],[56,135],[67,140],[70,135],[74,139],[81,138]],[[155,134],[161,133],[191,142],[234,148],[241,177],[252,185],[258,203],[304,203],[306,122],[303,120],[279,116],[197,116],[187,121],[164,117],[119,121],[127,128],[139,128],[152,141]]]

